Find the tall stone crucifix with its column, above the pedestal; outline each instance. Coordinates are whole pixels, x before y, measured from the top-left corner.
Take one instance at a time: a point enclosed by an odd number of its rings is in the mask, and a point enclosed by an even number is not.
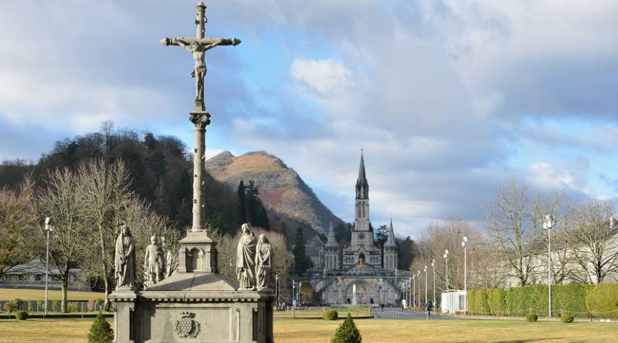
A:
[[[206,51],[218,45],[239,45],[237,38],[205,38],[204,25],[207,22],[206,5],[200,2],[196,10],[196,37],[194,38],[163,38],[163,45],[177,45],[189,51],[195,62],[191,76],[195,78],[195,106],[190,111],[189,120],[194,124],[194,154],[193,154],[193,224],[191,231],[204,231],[206,220],[205,209],[205,141],[206,126],[210,123],[210,113],[206,111],[204,101],[204,78],[206,76]]]

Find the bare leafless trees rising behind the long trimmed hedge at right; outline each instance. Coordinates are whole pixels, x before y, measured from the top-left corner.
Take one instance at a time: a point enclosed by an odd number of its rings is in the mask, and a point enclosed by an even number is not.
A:
[[[485,222],[478,228],[463,219],[428,226],[413,248],[410,270],[420,272],[429,287],[436,275],[436,292],[464,289],[466,236],[468,288],[547,285],[548,230],[551,215],[551,283],[598,284],[618,278],[618,222],[610,200],[574,199],[566,193],[544,194],[525,182],[510,180],[496,189],[485,206]],[[444,253],[448,250],[448,274]],[[431,267],[433,263],[434,267]],[[424,287],[424,285],[423,285]]]

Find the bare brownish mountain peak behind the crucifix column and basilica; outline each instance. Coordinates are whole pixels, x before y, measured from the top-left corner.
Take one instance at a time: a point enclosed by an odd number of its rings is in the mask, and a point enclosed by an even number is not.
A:
[[[249,152],[233,156],[231,152],[221,152],[206,162],[211,176],[225,182],[233,189],[240,180],[247,183],[253,180],[260,189],[260,199],[271,217],[271,227],[285,220],[288,232],[293,232],[297,223],[309,226],[315,233],[327,233],[330,222],[334,226],[343,221],[336,217],[317,198],[312,189],[294,169],[288,167],[277,156],[266,152]]]

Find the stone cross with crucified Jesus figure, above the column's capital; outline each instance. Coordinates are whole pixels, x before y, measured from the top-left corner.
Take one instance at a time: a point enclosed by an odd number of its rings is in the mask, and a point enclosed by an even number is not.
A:
[[[178,45],[189,51],[193,55],[195,67],[191,72],[192,78],[195,78],[195,107],[198,110],[205,110],[204,106],[204,78],[206,76],[206,51],[216,47],[217,45],[239,45],[238,38],[204,38],[204,27],[207,19],[205,17],[206,5],[203,2],[196,6],[196,37],[195,38],[163,38],[163,45]]]

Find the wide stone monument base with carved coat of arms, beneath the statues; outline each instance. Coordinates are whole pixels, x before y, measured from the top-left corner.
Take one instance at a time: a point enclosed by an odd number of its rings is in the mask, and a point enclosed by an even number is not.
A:
[[[193,272],[144,291],[116,290],[114,342],[273,342],[273,291],[237,287],[221,274]]]

